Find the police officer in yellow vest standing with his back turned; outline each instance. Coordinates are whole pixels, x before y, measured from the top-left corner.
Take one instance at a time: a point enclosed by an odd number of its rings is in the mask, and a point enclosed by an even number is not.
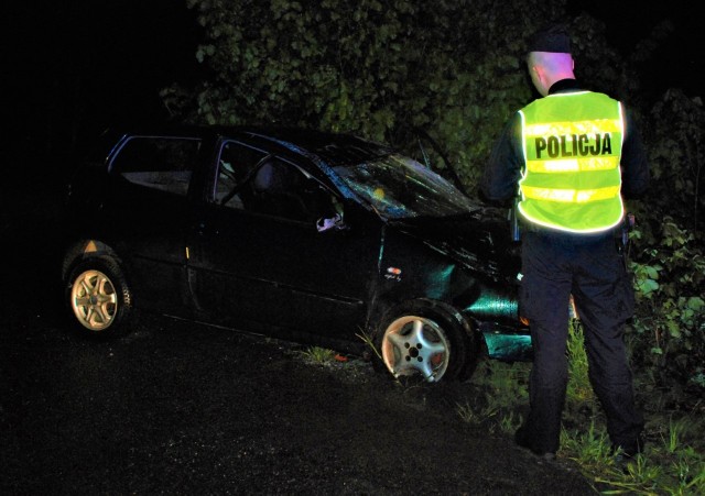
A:
[[[625,107],[576,81],[564,26],[536,33],[528,52],[531,80],[543,98],[507,123],[480,184],[490,202],[519,192],[520,308],[530,321],[534,360],[530,411],[516,442],[546,459],[558,450],[573,295],[611,443],[631,458],[643,447],[643,419],[623,341],[633,291],[615,232],[623,220],[622,196],[646,191],[646,154]]]

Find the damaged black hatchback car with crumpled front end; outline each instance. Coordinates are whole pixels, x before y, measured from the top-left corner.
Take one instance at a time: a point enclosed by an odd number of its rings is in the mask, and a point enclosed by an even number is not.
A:
[[[294,129],[107,133],[72,176],[62,263],[75,328],[140,311],[463,379],[527,360],[505,211],[391,147]]]

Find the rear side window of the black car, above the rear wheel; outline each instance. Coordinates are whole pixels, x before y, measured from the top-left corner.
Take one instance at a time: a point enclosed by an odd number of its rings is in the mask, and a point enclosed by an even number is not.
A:
[[[200,140],[135,136],[122,145],[111,170],[130,183],[185,196]]]

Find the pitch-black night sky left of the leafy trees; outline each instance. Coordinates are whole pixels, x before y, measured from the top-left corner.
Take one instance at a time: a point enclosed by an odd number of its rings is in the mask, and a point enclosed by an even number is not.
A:
[[[183,0],[11,2],[3,53],[11,144],[65,152],[109,125],[166,117],[159,91],[199,78]]]

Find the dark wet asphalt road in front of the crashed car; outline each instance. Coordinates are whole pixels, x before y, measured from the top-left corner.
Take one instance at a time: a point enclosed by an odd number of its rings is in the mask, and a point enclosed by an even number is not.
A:
[[[18,191],[2,196],[1,494],[595,493],[570,461],[463,422],[457,405],[484,394],[470,384],[403,387],[358,360],[148,315],[117,341],[75,337],[57,210]]]

